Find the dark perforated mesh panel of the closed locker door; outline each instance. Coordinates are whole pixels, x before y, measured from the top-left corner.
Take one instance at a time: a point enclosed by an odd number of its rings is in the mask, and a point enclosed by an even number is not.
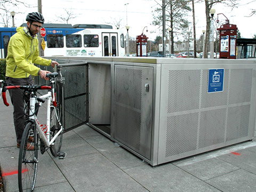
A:
[[[142,71],[115,69],[115,137],[140,150]]]

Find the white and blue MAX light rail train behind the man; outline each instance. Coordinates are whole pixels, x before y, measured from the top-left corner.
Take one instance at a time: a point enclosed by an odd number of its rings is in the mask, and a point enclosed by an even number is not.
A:
[[[125,54],[123,31],[110,25],[45,23],[43,27],[44,56],[123,57]],[[15,33],[16,28],[0,28],[1,58],[6,58],[8,43]]]

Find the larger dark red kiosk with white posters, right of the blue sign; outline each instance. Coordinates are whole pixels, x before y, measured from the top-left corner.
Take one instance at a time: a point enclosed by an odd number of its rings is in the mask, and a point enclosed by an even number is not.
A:
[[[219,20],[217,19],[218,22]],[[221,25],[217,30],[220,31],[220,59],[236,59],[236,25],[229,24],[229,20],[227,19],[226,24]]]

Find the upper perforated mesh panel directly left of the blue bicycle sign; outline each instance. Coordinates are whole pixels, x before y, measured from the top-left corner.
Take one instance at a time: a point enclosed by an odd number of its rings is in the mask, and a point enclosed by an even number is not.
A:
[[[170,70],[167,113],[198,109],[201,70]]]

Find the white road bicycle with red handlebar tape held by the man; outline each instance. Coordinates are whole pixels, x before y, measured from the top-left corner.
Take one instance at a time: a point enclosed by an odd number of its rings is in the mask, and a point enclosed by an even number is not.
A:
[[[20,143],[18,161],[18,184],[19,191],[33,191],[35,188],[38,150],[44,154],[50,148],[54,157],[65,158],[66,153],[60,152],[62,145],[63,127],[61,124],[61,105],[56,101],[54,92],[55,81],[58,73],[48,73],[46,77],[50,79],[49,84],[45,85],[9,85],[0,81],[0,96],[4,104],[9,106],[6,100],[6,90],[19,89],[23,91],[23,97],[29,98],[25,103],[23,113],[27,117],[25,130],[23,131]],[[37,96],[38,90],[48,90],[47,94]],[[47,100],[46,124],[38,121],[37,113],[39,107]],[[33,147],[34,145],[34,147]]]

